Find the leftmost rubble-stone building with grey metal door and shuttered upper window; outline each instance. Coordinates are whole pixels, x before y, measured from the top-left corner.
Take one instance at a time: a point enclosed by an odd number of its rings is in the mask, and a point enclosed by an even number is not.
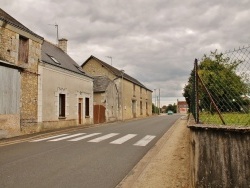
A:
[[[0,8],[0,129],[18,135],[37,123],[43,38]]]

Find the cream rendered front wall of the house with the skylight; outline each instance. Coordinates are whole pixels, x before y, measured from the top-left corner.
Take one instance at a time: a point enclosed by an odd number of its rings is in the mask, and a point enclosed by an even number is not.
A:
[[[79,124],[78,102],[82,99],[81,124],[93,123],[93,81],[49,64],[39,65],[40,129],[52,129]],[[59,118],[59,94],[66,95],[66,117]],[[90,116],[85,117],[85,98],[90,99]]]

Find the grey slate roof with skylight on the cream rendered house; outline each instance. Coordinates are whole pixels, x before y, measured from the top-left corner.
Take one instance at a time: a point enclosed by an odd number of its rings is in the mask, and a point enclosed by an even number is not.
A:
[[[42,61],[56,67],[91,77],[84,73],[82,68],[67,53],[48,41],[44,41],[42,44]]]

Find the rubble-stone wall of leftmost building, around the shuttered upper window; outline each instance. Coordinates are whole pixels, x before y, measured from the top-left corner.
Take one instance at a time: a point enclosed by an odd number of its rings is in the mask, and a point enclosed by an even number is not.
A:
[[[21,72],[20,126],[36,125],[38,61],[42,39],[8,24],[0,23],[0,59],[24,68]],[[28,62],[19,62],[19,37],[28,40]],[[20,129],[20,128],[19,128]]]

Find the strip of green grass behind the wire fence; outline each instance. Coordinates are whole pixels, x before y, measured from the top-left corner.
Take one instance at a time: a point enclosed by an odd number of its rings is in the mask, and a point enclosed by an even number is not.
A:
[[[226,125],[250,126],[250,113],[222,113]],[[200,113],[200,120],[203,124],[222,125],[222,121],[217,113],[213,115],[208,112]]]

